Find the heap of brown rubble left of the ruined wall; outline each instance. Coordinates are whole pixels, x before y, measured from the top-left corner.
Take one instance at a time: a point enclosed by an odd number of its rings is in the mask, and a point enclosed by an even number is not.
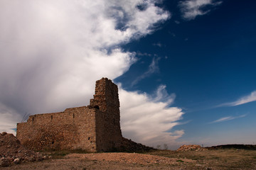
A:
[[[41,161],[47,158],[41,153],[33,152],[21,145],[21,142],[13,134],[0,133],[0,166]]]

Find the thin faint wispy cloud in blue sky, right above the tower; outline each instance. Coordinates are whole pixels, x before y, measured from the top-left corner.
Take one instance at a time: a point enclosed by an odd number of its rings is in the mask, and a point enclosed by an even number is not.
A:
[[[141,81],[142,79],[149,77],[151,74],[154,74],[155,72],[159,72],[158,63],[160,59],[161,59],[160,57],[154,57],[151,64],[149,65],[149,69],[146,72],[144,72],[141,76],[137,77],[137,79],[134,79],[134,81],[132,81],[132,86],[139,83],[139,81]]]

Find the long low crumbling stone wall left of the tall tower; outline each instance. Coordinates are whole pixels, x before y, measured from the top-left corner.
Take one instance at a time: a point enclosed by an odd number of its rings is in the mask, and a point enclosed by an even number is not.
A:
[[[60,113],[31,115],[17,124],[17,137],[29,149],[85,149],[96,151],[97,109],[68,108]]]

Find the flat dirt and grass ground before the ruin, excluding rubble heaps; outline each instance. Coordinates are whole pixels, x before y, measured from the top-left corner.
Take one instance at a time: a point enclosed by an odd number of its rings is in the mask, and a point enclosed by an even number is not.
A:
[[[256,151],[217,149],[175,152],[158,150],[144,154],[59,154],[42,162],[25,162],[0,169],[256,169]]]

